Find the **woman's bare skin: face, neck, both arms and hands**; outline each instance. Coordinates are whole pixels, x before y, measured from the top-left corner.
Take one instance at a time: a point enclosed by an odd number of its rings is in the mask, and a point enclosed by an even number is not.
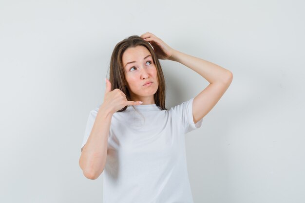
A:
[[[147,32],[140,37],[152,45],[158,59],[179,62],[210,82],[209,86],[193,100],[193,121],[197,123],[215,106],[229,88],[233,74],[214,63],[172,49],[152,33]],[[154,64],[148,62],[152,61],[151,57],[143,59],[149,54],[150,52],[145,47],[129,48],[123,54],[123,65],[136,61],[124,67],[127,86],[132,93],[133,101],[127,101],[125,94],[119,89],[111,91],[111,83],[106,79],[104,102],[96,115],[95,124],[79,159],[79,166],[89,179],[96,179],[104,170],[113,113],[127,105],[139,105],[138,101],[143,101],[144,104],[155,104],[153,94],[158,89],[156,68]],[[148,80],[153,82],[152,85],[143,87]]]

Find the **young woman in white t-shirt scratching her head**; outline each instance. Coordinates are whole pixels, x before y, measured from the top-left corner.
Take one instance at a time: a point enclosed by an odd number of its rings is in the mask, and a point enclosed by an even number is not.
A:
[[[167,110],[159,59],[182,63],[209,86]],[[90,112],[79,159],[88,179],[104,171],[104,203],[192,203],[184,136],[201,127],[231,81],[230,71],[149,32],[116,44],[104,101]]]

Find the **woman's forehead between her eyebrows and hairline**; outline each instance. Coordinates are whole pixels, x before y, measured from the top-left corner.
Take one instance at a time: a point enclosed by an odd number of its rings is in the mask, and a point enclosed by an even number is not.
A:
[[[144,46],[129,47],[122,55],[123,65],[130,61],[143,60],[147,55],[151,55],[151,53]]]

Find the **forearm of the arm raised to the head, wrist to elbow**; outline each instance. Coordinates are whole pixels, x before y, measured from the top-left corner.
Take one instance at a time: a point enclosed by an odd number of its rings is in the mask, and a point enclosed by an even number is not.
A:
[[[177,50],[173,51],[173,55],[170,58],[172,61],[179,62],[196,73],[200,74],[210,83],[227,81],[231,77],[231,72],[225,68],[222,68],[214,63],[197,58],[195,56],[187,55]]]

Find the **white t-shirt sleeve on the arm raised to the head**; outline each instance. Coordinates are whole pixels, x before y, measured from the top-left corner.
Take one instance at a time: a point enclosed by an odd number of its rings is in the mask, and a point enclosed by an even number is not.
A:
[[[189,101],[185,101],[175,107],[172,107],[171,110],[180,118],[181,123],[185,129],[184,133],[191,132],[192,130],[199,129],[202,126],[202,119],[197,123],[194,123],[193,120],[193,100],[191,98]]]

